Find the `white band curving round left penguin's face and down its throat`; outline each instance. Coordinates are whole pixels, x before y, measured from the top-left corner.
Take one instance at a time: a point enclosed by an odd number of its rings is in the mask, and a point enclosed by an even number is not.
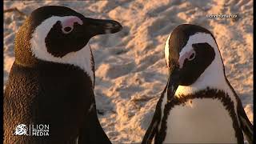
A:
[[[58,21],[65,21],[68,18],[74,18],[74,16],[66,16],[66,17],[57,17],[53,16],[47,18],[43,21],[37,28],[34,30],[32,34],[32,38],[30,40],[31,43],[31,52],[35,58],[47,61],[47,62],[58,62],[63,64],[70,64],[74,66],[78,66],[86,74],[90,76],[91,82],[93,82],[94,86],[94,72],[92,70],[92,55],[90,51],[90,46],[84,46],[81,50],[76,52],[70,52],[66,54],[62,58],[54,57],[54,55],[48,53],[46,49],[45,38],[47,34],[50,32],[50,29],[54,24]]]

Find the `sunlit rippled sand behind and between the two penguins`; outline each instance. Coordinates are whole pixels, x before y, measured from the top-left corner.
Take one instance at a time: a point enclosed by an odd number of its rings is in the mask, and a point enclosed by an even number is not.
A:
[[[90,39],[98,118],[111,142],[142,141],[167,82],[166,38],[182,23],[214,34],[226,77],[253,122],[253,1],[4,1],[4,10],[16,7],[29,15],[49,5],[68,6],[88,18],[114,19],[123,26],[116,34]],[[210,14],[237,18],[209,18]],[[4,14],[4,83],[15,59],[14,37],[24,20],[17,12]]]

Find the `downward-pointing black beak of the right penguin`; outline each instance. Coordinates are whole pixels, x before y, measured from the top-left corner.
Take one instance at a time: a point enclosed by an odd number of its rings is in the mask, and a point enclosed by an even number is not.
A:
[[[174,94],[178,88],[178,85],[180,83],[180,69],[178,66],[175,66],[172,68],[172,70],[169,71],[169,79],[167,82],[167,100],[170,101],[172,98],[174,98]]]

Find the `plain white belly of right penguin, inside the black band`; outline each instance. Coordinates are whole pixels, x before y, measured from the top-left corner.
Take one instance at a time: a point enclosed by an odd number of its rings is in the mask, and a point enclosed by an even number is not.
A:
[[[212,98],[190,102],[170,110],[164,143],[237,142],[232,119],[222,102]]]

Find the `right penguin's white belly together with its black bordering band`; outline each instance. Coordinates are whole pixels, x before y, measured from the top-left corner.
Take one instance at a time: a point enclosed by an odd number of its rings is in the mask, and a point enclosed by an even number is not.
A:
[[[166,95],[165,95],[166,96]],[[166,104],[162,98],[158,142],[238,142],[234,102],[221,90],[175,96]]]

